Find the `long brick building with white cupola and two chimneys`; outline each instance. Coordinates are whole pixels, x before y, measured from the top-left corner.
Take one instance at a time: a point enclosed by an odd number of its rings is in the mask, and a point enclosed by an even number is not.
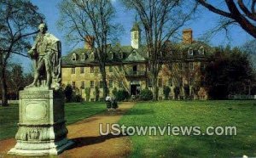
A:
[[[84,89],[90,88],[90,101],[96,91],[102,99],[102,81],[96,55],[94,38],[86,37],[84,48],[73,50],[62,57],[62,83],[72,85],[74,91],[85,98]],[[207,99],[204,87],[204,69],[209,54],[214,51],[204,42],[195,42],[191,29],[183,30],[183,41],[166,42],[163,65],[158,77],[159,99],[164,99],[163,87],[171,88],[169,99]],[[141,30],[135,23],[131,29],[131,46],[119,44],[108,47],[106,73],[109,93],[113,88],[125,89],[131,95],[152,88],[147,47],[141,44]]]

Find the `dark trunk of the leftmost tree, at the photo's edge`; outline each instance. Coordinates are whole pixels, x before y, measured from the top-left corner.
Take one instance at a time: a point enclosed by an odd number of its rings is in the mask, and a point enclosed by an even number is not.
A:
[[[2,86],[2,105],[8,106],[8,99],[7,99],[7,85],[6,85],[6,78],[5,78],[5,66],[1,65],[1,86]]]

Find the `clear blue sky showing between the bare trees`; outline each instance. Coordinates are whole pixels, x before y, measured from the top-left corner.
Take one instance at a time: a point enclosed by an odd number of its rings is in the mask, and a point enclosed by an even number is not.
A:
[[[62,42],[62,55],[66,55],[73,48],[68,46],[64,39],[63,32],[59,31],[56,25],[56,21],[59,18],[59,10],[57,4],[61,0],[32,0],[33,4],[37,5],[39,11],[44,14],[46,23],[48,24],[49,32],[58,37]],[[133,22],[135,21],[135,15],[130,10],[125,9],[119,0],[113,0],[113,4],[117,9],[117,21],[121,22],[125,32],[122,37],[119,37],[121,44],[130,45],[130,30]],[[200,17],[197,20],[192,21],[189,25],[183,28],[193,29],[194,39],[200,38],[206,31],[209,31],[216,22],[218,21],[218,15],[212,14],[205,8],[201,9]],[[240,27],[235,26],[231,30],[230,39],[227,39],[224,32],[218,33],[217,36],[213,37],[211,40],[212,46],[230,44],[231,46],[241,46],[247,40],[252,40],[253,37],[248,35],[245,31],[241,30]],[[24,60],[26,59],[26,62]],[[15,58],[15,62],[22,63],[24,65],[25,71],[29,69],[30,62],[27,58]]]

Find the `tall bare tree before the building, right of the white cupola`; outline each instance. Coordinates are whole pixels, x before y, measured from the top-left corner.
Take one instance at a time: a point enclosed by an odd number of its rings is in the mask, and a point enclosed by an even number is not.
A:
[[[142,21],[153,79],[153,99],[157,100],[157,77],[162,65],[163,44],[191,20],[196,3],[192,5],[182,0],[123,0],[123,3],[127,8],[133,8]]]

